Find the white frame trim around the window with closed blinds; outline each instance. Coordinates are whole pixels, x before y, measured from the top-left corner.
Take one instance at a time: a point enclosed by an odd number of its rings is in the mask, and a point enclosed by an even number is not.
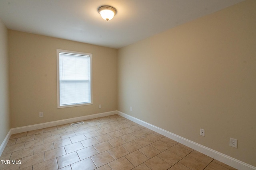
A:
[[[75,107],[75,106],[84,106],[84,105],[91,105],[92,104],[92,54],[90,53],[82,53],[77,51],[68,51],[68,50],[62,50],[57,49],[57,107],[58,108],[64,108],[64,107]],[[63,105],[60,106],[60,53],[68,53],[73,55],[86,55],[90,56],[90,102],[83,103],[83,104],[70,104],[70,105]]]

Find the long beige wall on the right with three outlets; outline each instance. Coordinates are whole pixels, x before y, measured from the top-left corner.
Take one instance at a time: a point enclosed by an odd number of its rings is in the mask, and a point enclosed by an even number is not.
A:
[[[119,49],[118,110],[256,166],[255,9],[247,0]]]

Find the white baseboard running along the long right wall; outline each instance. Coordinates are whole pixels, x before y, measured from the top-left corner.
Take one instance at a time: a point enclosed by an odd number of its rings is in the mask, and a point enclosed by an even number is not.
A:
[[[228,155],[225,155],[223,153],[220,153],[216,150],[210,149],[208,147],[205,147],[203,145],[200,145],[198,143],[195,143],[193,141],[190,141],[184,137],[180,137],[174,133],[171,133],[169,131],[166,131],[164,129],[161,129],[159,127],[156,127],[154,125],[151,125],[150,123],[147,123],[145,121],[142,121],[140,119],[137,119],[136,117],[127,115],[126,113],[122,113],[120,111],[117,111],[118,115],[125,117],[126,119],[129,119],[131,121],[134,121],[135,123],[138,123],[139,125],[142,125],[144,127],[147,127],[148,129],[151,129],[152,131],[155,131],[157,133],[160,133],[161,135],[164,135],[170,139],[173,139],[174,141],[177,141],[178,143],[181,143],[183,145],[186,145],[194,150],[197,150],[203,154],[206,154],[207,156],[210,156],[220,162],[223,162],[229,166],[232,166],[238,170],[256,170],[255,166],[246,164],[240,160],[237,160],[235,158],[232,158]]]

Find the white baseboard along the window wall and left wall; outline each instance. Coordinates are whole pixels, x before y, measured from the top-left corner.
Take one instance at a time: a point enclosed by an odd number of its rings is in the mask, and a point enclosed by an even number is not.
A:
[[[8,140],[12,134],[22,133],[22,132],[26,132],[26,131],[33,131],[33,130],[37,130],[37,129],[63,125],[63,124],[67,124],[67,123],[74,123],[74,122],[78,122],[78,121],[94,119],[94,118],[109,116],[109,115],[114,115],[114,114],[117,114],[117,111],[108,111],[108,112],[97,113],[97,114],[93,114],[93,115],[86,115],[86,116],[74,117],[74,118],[70,118],[70,119],[62,119],[62,120],[58,120],[58,121],[39,123],[36,125],[28,125],[28,126],[23,126],[23,127],[12,128],[12,129],[10,129],[10,131],[8,132],[8,134],[6,135],[6,137],[4,138],[4,141],[2,142],[2,144],[0,146],[0,156],[2,155],[2,152],[4,151],[4,148],[5,148],[6,144],[8,143]]]

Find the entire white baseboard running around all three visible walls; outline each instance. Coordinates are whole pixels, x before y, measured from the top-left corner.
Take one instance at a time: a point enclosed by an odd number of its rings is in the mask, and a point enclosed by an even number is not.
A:
[[[32,131],[32,130],[36,130],[36,129],[42,129],[42,128],[46,128],[46,127],[52,127],[52,126],[57,126],[57,125],[63,125],[63,124],[67,124],[67,123],[77,122],[77,121],[94,119],[94,118],[108,116],[108,115],[114,115],[114,114],[118,114],[122,117],[125,117],[126,119],[134,121],[135,123],[138,123],[144,127],[147,127],[148,129],[151,129],[152,131],[160,133],[161,135],[164,135],[170,139],[173,139],[174,141],[177,141],[178,143],[181,143],[181,144],[186,145],[192,149],[195,149],[203,154],[206,154],[207,156],[210,156],[216,160],[219,160],[220,162],[223,162],[223,163],[225,163],[229,166],[232,166],[238,170],[256,170],[255,166],[246,164],[240,160],[237,160],[235,158],[232,158],[230,156],[222,154],[216,150],[210,149],[208,147],[205,147],[203,145],[200,145],[198,143],[190,141],[184,137],[180,137],[174,133],[171,133],[169,131],[166,131],[164,129],[161,129],[159,127],[151,125],[150,123],[147,123],[145,121],[137,119],[136,117],[132,117],[130,115],[122,113],[120,111],[109,111],[109,112],[97,113],[97,114],[93,114],[93,115],[86,115],[86,116],[74,117],[74,118],[70,118],[70,119],[63,119],[63,120],[58,120],[58,121],[40,123],[40,124],[36,124],[36,125],[12,128],[12,129],[10,129],[10,131],[8,132],[8,134],[6,135],[4,141],[2,142],[2,144],[0,146],[0,156],[1,156],[2,152],[4,151],[4,148],[5,148],[6,144],[8,143],[8,140],[12,134],[22,133],[22,132],[26,132],[26,131]]]

